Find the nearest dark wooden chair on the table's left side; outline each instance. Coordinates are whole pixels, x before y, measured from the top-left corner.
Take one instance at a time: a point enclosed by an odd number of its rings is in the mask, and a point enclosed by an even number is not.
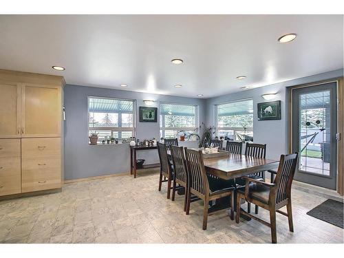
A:
[[[189,215],[191,204],[191,193],[204,201],[203,230],[206,230],[208,222],[209,202],[222,197],[230,197],[230,219],[234,219],[234,187],[224,189],[209,189],[206,170],[204,169],[202,151],[185,149],[186,167],[189,173],[189,187],[187,191],[186,215]]]

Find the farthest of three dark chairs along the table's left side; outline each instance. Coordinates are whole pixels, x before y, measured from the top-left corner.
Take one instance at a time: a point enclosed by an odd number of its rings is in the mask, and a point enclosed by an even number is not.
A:
[[[167,156],[165,144],[158,142],[158,154],[160,159],[159,191],[161,191],[162,182],[167,182],[167,199],[169,199],[171,194],[171,182],[173,180],[173,170]],[[163,176],[164,180],[162,180]]]

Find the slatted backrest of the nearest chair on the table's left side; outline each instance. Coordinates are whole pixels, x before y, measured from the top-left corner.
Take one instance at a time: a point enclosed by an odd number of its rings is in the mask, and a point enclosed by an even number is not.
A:
[[[206,195],[209,192],[209,184],[204,169],[202,151],[185,148],[185,156],[191,189],[200,195]]]

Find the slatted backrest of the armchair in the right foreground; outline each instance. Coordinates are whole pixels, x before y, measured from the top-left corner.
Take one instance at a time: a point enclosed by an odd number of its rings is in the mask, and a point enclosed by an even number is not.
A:
[[[298,157],[299,153],[281,155],[279,169],[274,182],[276,185],[275,191],[277,191],[275,193],[276,204],[290,198],[292,180],[294,179],[294,173],[297,168]]]

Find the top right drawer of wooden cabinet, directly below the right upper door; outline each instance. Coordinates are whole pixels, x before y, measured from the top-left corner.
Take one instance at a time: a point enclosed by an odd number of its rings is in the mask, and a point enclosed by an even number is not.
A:
[[[61,138],[21,139],[22,158],[39,158],[61,155]]]

